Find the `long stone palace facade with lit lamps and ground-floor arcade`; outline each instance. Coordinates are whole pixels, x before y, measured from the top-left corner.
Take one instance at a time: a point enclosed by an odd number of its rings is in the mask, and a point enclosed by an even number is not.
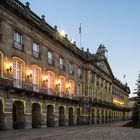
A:
[[[0,129],[127,119],[130,90],[105,51],[79,49],[28,2],[0,0]]]

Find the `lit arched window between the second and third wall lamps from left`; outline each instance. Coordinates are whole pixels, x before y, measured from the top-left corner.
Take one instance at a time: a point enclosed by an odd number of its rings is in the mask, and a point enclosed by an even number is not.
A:
[[[33,91],[38,92],[39,91],[39,85],[40,85],[40,74],[41,74],[41,69],[40,67],[33,65],[32,66],[32,83],[33,83]]]

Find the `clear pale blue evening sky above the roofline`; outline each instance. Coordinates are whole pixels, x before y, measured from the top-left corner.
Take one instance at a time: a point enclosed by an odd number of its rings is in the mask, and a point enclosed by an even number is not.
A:
[[[27,0],[21,0],[25,3]],[[95,53],[102,43],[108,50],[113,74],[134,92],[140,71],[140,0],[28,0],[30,8],[46,22],[64,30],[79,47]],[[126,75],[125,79],[123,76]],[[132,96],[132,95],[131,95]]]

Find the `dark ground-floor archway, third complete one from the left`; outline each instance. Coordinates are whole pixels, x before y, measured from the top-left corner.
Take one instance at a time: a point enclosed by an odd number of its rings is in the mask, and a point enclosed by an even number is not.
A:
[[[53,105],[47,106],[47,126],[54,126],[54,107]]]

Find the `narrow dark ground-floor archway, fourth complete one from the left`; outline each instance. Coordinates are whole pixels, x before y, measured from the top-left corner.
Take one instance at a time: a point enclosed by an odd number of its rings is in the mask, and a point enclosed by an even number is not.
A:
[[[64,107],[59,107],[59,126],[65,126],[65,114],[64,114]]]

